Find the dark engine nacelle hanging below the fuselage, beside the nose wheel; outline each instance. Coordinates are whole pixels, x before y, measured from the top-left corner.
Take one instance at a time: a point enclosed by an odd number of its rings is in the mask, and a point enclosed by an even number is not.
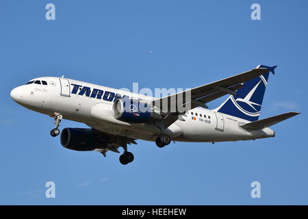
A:
[[[60,142],[66,149],[75,151],[92,151],[106,146],[97,138],[97,134],[86,129],[65,128],[62,130]]]

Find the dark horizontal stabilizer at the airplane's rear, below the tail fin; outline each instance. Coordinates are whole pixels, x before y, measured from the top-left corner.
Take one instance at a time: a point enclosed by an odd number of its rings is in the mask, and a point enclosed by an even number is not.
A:
[[[264,118],[261,120],[257,120],[252,123],[246,123],[245,125],[241,125],[243,129],[249,129],[249,130],[259,130],[259,129],[265,129],[267,127],[270,127],[271,125],[275,125],[276,123],[280,123],[283,120],[286,120],[287,118],[291,118],[293,116],[296,116],[300,114],[299,112],[287,112],[285,114],[281,114],[278,116],[272,116],[270,118]]]

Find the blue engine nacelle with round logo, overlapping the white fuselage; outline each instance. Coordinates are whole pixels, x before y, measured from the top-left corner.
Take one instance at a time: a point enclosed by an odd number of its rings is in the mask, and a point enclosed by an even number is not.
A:
[[[162,120],[162,116],[152,112],[151,106],[133,99],[116,99],[112,114],[117,120],[127,123],[146,123],[151,120]]]

